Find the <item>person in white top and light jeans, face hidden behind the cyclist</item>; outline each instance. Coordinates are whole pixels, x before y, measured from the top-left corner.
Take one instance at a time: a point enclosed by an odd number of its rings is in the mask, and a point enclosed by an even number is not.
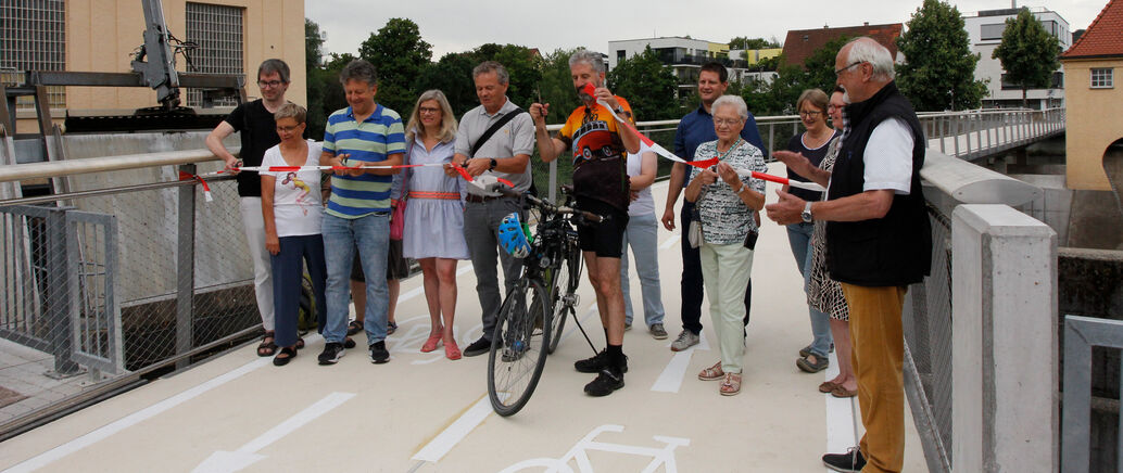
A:
[[[628,247],[636,257],[643,295],[643,322],[655,340],[667,337],[663,327],[663,295],[659,289],[659,224],[655,217],[651,183],[658,163],[655,151],[640,143],[639,154],[628,155],[628,182],[634,197],[628,205],[628,226],[624,228],[623,250],[620,252],[620,289],[624,294],[624,327],[632,323],[631,297],[628,295]]]

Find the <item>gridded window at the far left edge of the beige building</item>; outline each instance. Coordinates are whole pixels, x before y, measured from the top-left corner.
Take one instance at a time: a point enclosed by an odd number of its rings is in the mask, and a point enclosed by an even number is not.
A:
[[[63,0],[4,0],[0,2],[0,80],[24,82],[25,71],[66,69],[66,7]],[[52,108],[66,106],[66,87],[47,87]],[[35,108],[21,96],[17,110]]]

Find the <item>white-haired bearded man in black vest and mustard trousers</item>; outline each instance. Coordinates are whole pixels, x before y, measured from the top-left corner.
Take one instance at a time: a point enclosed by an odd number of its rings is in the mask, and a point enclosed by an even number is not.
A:
[[[904,463],[904,335],[909,285],[929,273],[931,230],[920,185],[924,133],[893,82],[893,57],[857,38],[834,59],[846,90],[846,129],[828,200],[778,192],[768,217],[779,224],[825,220],[827,265],[850,306],[853,368],[866,435],[857,451],[823,455],[842,471],[900,472]],[[865,470],[862,470],[865,467]]]

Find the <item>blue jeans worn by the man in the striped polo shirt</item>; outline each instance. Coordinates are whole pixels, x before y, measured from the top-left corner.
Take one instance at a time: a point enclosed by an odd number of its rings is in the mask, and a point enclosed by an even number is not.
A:
[[[347,336],[350,299],[350,272],[355,250],[365,275],[385,275],[390,249],[390,214],[374,213],[358,219],[323,215],[323,256],[328,265],[328,318],[323,340],[343,343]],[[386,317],[390,310],[390,289],[386,278],[367,278],[366,314],[363,327],[367,343],[386,340]]]

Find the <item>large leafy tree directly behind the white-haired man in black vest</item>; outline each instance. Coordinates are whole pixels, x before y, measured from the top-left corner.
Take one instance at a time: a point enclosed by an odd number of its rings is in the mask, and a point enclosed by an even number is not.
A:
[[[942,0],[924,0],[897,38],[905,64],[897,66],[897,85],[917,111],[975,109],[986,82],[975,80],[977,54],[959,9]]]

